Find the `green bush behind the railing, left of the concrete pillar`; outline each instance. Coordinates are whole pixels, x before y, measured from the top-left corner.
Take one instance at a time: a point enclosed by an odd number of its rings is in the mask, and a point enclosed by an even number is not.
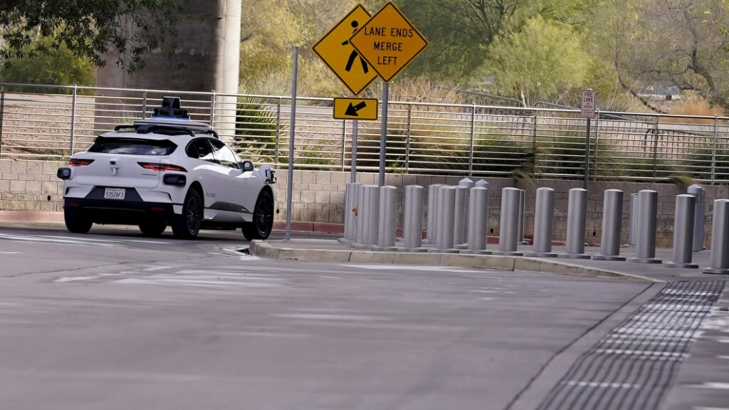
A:
[[[47,54],[12,58],[9,65],[0,67],[0,81],[21,84],[93,85],[95,69],[84,58],[79,58],[65,44],[52,47],[52,39],[41,38],[23,50],[31,50],[35,43],[47,47]]]

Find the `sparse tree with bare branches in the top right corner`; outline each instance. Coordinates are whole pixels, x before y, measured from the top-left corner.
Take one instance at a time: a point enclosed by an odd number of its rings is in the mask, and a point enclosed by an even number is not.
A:
[[[663,83],[729,107],[729,26],[725,0],[602,0],[591,9],[593,50],[615,67],[620,85],[640,96],[647,85]]]

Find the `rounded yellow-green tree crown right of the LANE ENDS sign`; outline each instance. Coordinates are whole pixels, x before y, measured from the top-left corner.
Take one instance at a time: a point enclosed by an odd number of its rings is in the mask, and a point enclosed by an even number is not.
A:
[[[531,18],[522,31],[491,46],[490,72],[500,90],[527,105],[579,90],[588,77],[590,57],[577,33],[544,18]]]

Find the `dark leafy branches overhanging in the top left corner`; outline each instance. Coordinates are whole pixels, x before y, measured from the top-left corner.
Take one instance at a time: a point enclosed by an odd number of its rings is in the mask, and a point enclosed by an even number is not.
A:
[[[104,53],[119,55],[127,71],[144,66],[143,53],[174,49],[176,0],[2,0],[0,61],[27,55],[49,55],[65,46],[95,66],[106,65]],[[33,42],[39,33],[47,42]]]

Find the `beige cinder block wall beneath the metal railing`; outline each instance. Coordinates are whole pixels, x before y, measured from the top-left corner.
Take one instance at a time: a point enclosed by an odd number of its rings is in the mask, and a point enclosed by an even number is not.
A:
[[[62,211],[61,190],[63,183],[55,177],[56,170],[62,163],[44,161],[0,160],[0,210],[19,211]],[[361,173],[357,182],[376,184],[378,175]],[[276,207],[280,210],[279,220],[286,218],[286,170],[278,172],[278,184],[274,185]],[[292,220],[343,223],[344,193],[349,182],[349,172],[336,171],[295,171],[294,191],[292,196]],[[402,223],[402,191],[406,185],[421,185],[426,188],[431,184],[457,185],[462,177],[440,177],[428,175],[388,174],[386,184],[397,187],[398,224]],[[511,178],[488,178],[491,183],[489,193],[488,231],[499,233],[499,207],[501,206],[501,190],[504,187],[520,187],[526,190],[525,235],[532,234],[534,226],[534,196],[537,188],[551,187],[555,189],[555,221],[556,240],[564,240],[567,225],[567,198],[569,190],[582,187],[582,181],[561,181],[551,179],[534,179],[518,183]],[[686,193],[684,187],[673,184],[650,184],[638,182],[590,182],[588,196],[588,220],[586,239],[590,243],[598,243],[602,230],[602,196],[603,191],[615,188],[623,190],[623,242],[628,237],[628,211],[631,193],[652,189],[658,191],[658,246],[670,247],[673,241],[673,224],[675,197]],[[711,237],[712,202],[717,198],[729,198],[729,186],[715,185],[706,188],[706,222],[704,243],[708,245]]]

